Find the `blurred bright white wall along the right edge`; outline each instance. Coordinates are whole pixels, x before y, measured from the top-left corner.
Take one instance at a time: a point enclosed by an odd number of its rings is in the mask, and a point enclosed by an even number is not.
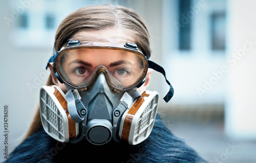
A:
[[[256,15],[252,1],[229,1],[226,133],[256,139]]]

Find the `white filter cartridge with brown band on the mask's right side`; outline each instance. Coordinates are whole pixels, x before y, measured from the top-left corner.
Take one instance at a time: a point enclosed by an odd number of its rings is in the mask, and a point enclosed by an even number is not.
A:
[[[156,119],[158,99],[158,92],[146,90],[130,109],[125,110],[119,130],[122,140],[137,145],[150,135]]]

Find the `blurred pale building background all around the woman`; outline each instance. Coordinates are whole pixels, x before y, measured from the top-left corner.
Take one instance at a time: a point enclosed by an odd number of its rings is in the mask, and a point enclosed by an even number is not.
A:
[[[256,2],[250,0],[1,1],[0,150],[5,105],[9,153],[32,121],[60,22],[101,4],[132,8],[145,20],[151,60],[175,89],[169,103],[160,99],[167,127],[209,162],[256,162]],[[167,93],[160,73],[153,73],[150,89]]]

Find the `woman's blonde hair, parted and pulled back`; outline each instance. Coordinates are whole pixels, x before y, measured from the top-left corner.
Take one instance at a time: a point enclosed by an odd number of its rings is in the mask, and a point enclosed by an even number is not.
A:
[[[57,29],[54,47],[56,51],[60,50],[67,39],[81,30],[99,31],[114,27],[118,27],[131,35],[133,41],[139,46],[142,53],[147,58],[151,56],[150,36],[141,17],[131,9],[113,5],[83,7],[68,15]],[[56,72],[56,68],[54,68],[54,71]],[[50,75],[46,85],[53,84]],[[41,125],[38,105],[25,138],[32,135]]]

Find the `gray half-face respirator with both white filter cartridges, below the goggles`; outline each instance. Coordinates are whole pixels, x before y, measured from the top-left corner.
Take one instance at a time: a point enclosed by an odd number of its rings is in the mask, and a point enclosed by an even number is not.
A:
[[[135,145],[150,135],[158,106],[156,91],[114,91],[103,71],[87,90],[67,88],[66,95],[57,86],[40,90],[42,125],[58,141],[78,143],[86,138],[103,145],[113,138]]]

